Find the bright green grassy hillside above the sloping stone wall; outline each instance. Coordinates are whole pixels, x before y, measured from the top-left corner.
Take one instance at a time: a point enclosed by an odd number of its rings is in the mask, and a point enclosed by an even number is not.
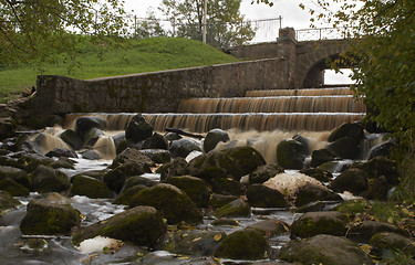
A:
[[[91,44],[92,45],[92,44]],[[69,63],[45,64],[43,71],[33,66],[8,66],[0,71],[0,100],[20,95],[35,85],[38,74],[65,75],[87,80],[191,66],[231,63],[237,59],[198,41],[178,38],[154,38],[131,41],[126,47],[80,47],[76,67],[69,73]],[[73,64],[73,62],[72,62]]]

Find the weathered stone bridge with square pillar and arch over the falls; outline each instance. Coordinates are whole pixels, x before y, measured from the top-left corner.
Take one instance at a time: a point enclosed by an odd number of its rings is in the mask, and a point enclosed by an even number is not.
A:
[[[344,54],[351,45],[351,40],[295,40],[292,28],[280,30],[277,42],[236,46],[224,50],[226,53],[243,60],[287,59],[287,88],[320,87],[324,84],[324,70],[328,70],[326,59],[332,60]]]

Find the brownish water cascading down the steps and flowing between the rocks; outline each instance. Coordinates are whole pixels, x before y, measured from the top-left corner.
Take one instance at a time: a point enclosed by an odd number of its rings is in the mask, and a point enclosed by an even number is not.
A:
[[[187,129],[194,132],[207,132],[212,128],[228,131],[235,146],[252,146],[259,150],[267,162],[276,162],[277,145],[294,135],[300,134],[310,140],[310,149],[324,148],[330,130],[347,123],[360,120],[365,112],[361,102],[354,102],[349,89],[294,89],[294,91],[263,91],[247,92],[246,98],[197,98],[184,100],[176,114],[143,114],[156,131],[163,132],[168,127]],[[44,131],[32,136],[31,140],[39,146],[39,152],[45,153],[54,147],[69,148],[60,138],[64,129],[74,129],[75,120],[80,116],[100,116],[107,120],[105,136],[94,145],[105,160],[75,159],[75,170],[64,170],[69,177],[76,173],[104,169],[111,165],[115,157],[115,147],[112,137],[125,130],[128,121],[135,114],[71,114],[68,115],[63,128],[46,128]],[[365,145],[365,152],[375,145],[377,138],[370,139]],[[220,144],[217,148],[224,148]],[[362,155],[365,157],[366,155]],[[295,174],[297,172],[288,172]],[[157,174],[144,177],[155,180]],[[22,206],[0,219],[0,264],[107,264],[122,263],[127,256],[143,252],[139,247],[126,245],[115,254],[85,254],[74,248],[70,237],[42,236],[48,242],[43,251],[31,251],[24,247],[28,240],[19,230],[21,220],[25,214],[25,204],[33,198],[40,197],[31,193],[29,198],[18,198]],[[68,199],[84,216],[83,225],[105,220],[123,211],[123,206],[111,203],[111,200],[89,199],[73,197]],[[289,224],[299,214],[288,209],[252,209],[250,219],[237,219],[239,226],[212,226],[211,216],[206,216],[198,229],[209,231],[225,231],[231,233],[241,230],[263,219],[274,218]],[[289,241],[289,236],[270,239],[273,250]],[[93,257],[91,256],[93,255]],[[177,255],[166,252],[154,252],[145,257],[148,264],[205,264],[206,258],[183,259]],[[222,261],[224,263],[238,263]]]

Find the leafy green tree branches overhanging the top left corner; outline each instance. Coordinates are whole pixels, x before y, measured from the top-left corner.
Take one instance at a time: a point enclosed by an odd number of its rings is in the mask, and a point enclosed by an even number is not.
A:
[[[0,0],[0,61],[71,57],[83,38],[123,34],[121,0]]]

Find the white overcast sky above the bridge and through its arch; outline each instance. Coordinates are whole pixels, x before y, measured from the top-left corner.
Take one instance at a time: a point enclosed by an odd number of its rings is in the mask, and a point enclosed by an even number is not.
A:
[[[317,0],[276,0],[273,7],[264,3],[253,3],[251,0],[242,0],[240,12],[245,14],[247,20],[264,20],[282,17],[282,28],[293,28],[294,30],[302,30],[310,28],[310,13],[312,9],[319,12],[319,7],[315,4]],[[299,3],[305,6],[305,10],[299,8]],[[125,11],[137,18],[145,18],[148,9],[153,9],[157,18],[165,19],[163,13],[158,11],[162,0],[125,0]],[[261,22],[261,32],[258,32],[255,42],[270,42],[278,38],[278,21]],[[321,24],[321,26],[330,26],[329,24]],[[263,32],[262,32],[263,31]],[[335,75],[334,72],[328,71],[325,74],[325,84],[333,83],[350,83],[349,71],[344,71],[343,75]]]

